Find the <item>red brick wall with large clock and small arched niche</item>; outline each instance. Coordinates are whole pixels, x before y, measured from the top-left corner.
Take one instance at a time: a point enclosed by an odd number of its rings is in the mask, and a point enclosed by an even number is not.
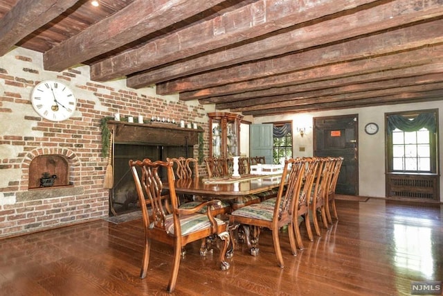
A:
[[[120,112],[136,120],[142,114],[208,128],[202,105],[156,96],[151,88],[128,89],[124,80],[91,82],[89,67],[56,73],[41,65],[40,53],[21,48],[0,57],[0,237],[108,216],[108,190],[102,189],[107,165],[101,155],[103,117]],[[71,119],[51,122],[33,110],[30,92],[46,79],[64,80],[75,94],[78,107]],[[30,162],[48,154],[68,159],[73,186],[28,190]]]

